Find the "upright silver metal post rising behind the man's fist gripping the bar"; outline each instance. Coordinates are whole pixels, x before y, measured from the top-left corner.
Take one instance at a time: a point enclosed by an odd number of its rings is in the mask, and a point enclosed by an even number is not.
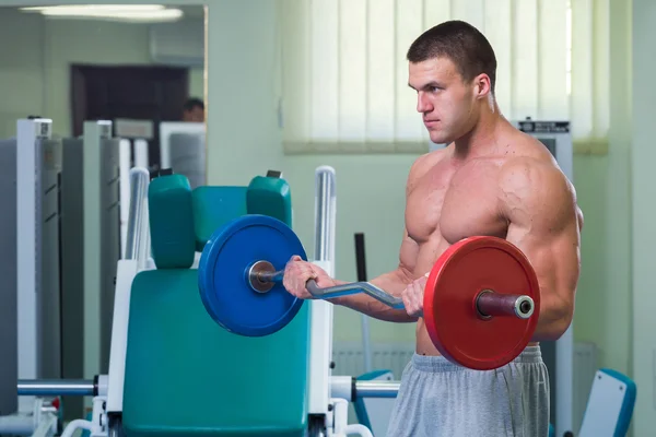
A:
[[[324,166],[317,168],[315,178],[315,260],[335,261],[335,214],[336,190],[335,169]],[[331,272],[328,272],[331,274]]]

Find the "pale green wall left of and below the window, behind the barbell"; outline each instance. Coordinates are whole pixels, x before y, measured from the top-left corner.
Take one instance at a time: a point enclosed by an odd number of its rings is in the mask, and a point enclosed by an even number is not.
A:
[[[269,168],[292,187],[294,227],[314,252],[314,172],[337,173],[337,276],[355,280],[353,233],[364,232],[370,276],[394,269],[411,155],[284,156],[278,125],[276,3],[212,3],[208,13],[208,182],[248,184]],[[243,16],[248,15],[244,22]],[[337,308],[335,340],[360,339],[360,317]],[[412,341],[414,326],[372,322],[374,341]]]

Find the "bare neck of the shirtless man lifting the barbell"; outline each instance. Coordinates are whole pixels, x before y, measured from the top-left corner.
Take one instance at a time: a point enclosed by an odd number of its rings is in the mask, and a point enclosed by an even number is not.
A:
[[[484,154],[495,146],[496,133],[507,123],[496,104],[484,108],[473,128],[454,142],[454,153],[457,157],[467,158]]]

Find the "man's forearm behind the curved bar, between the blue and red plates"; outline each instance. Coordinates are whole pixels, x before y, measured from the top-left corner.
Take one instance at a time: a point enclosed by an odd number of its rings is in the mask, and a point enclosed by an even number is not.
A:
[[[341,281],[336,282],[338,285],[345,284],[345,282]],[[385,273],[370,282],[390,295],[400,297],[401,292],[406,290],[410,283],[410,280],[400,270],[395,270],[393,272]],[[405,309],[394,309],[363,293],[336,297],[329,300],[335,305],[341,305],[354,309],[355,311],[363,312],[378,320],[398,323],[417,321],[417,318],[408,316],[408,312],[406,312]]]

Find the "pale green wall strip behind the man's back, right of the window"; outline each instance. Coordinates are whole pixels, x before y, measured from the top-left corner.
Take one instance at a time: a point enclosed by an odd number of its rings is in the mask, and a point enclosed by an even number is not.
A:
[[[610,8],[609,150],[574,156],[585,215],[574,336],[597,344],[599,366],[631,375],[631,5]]]

